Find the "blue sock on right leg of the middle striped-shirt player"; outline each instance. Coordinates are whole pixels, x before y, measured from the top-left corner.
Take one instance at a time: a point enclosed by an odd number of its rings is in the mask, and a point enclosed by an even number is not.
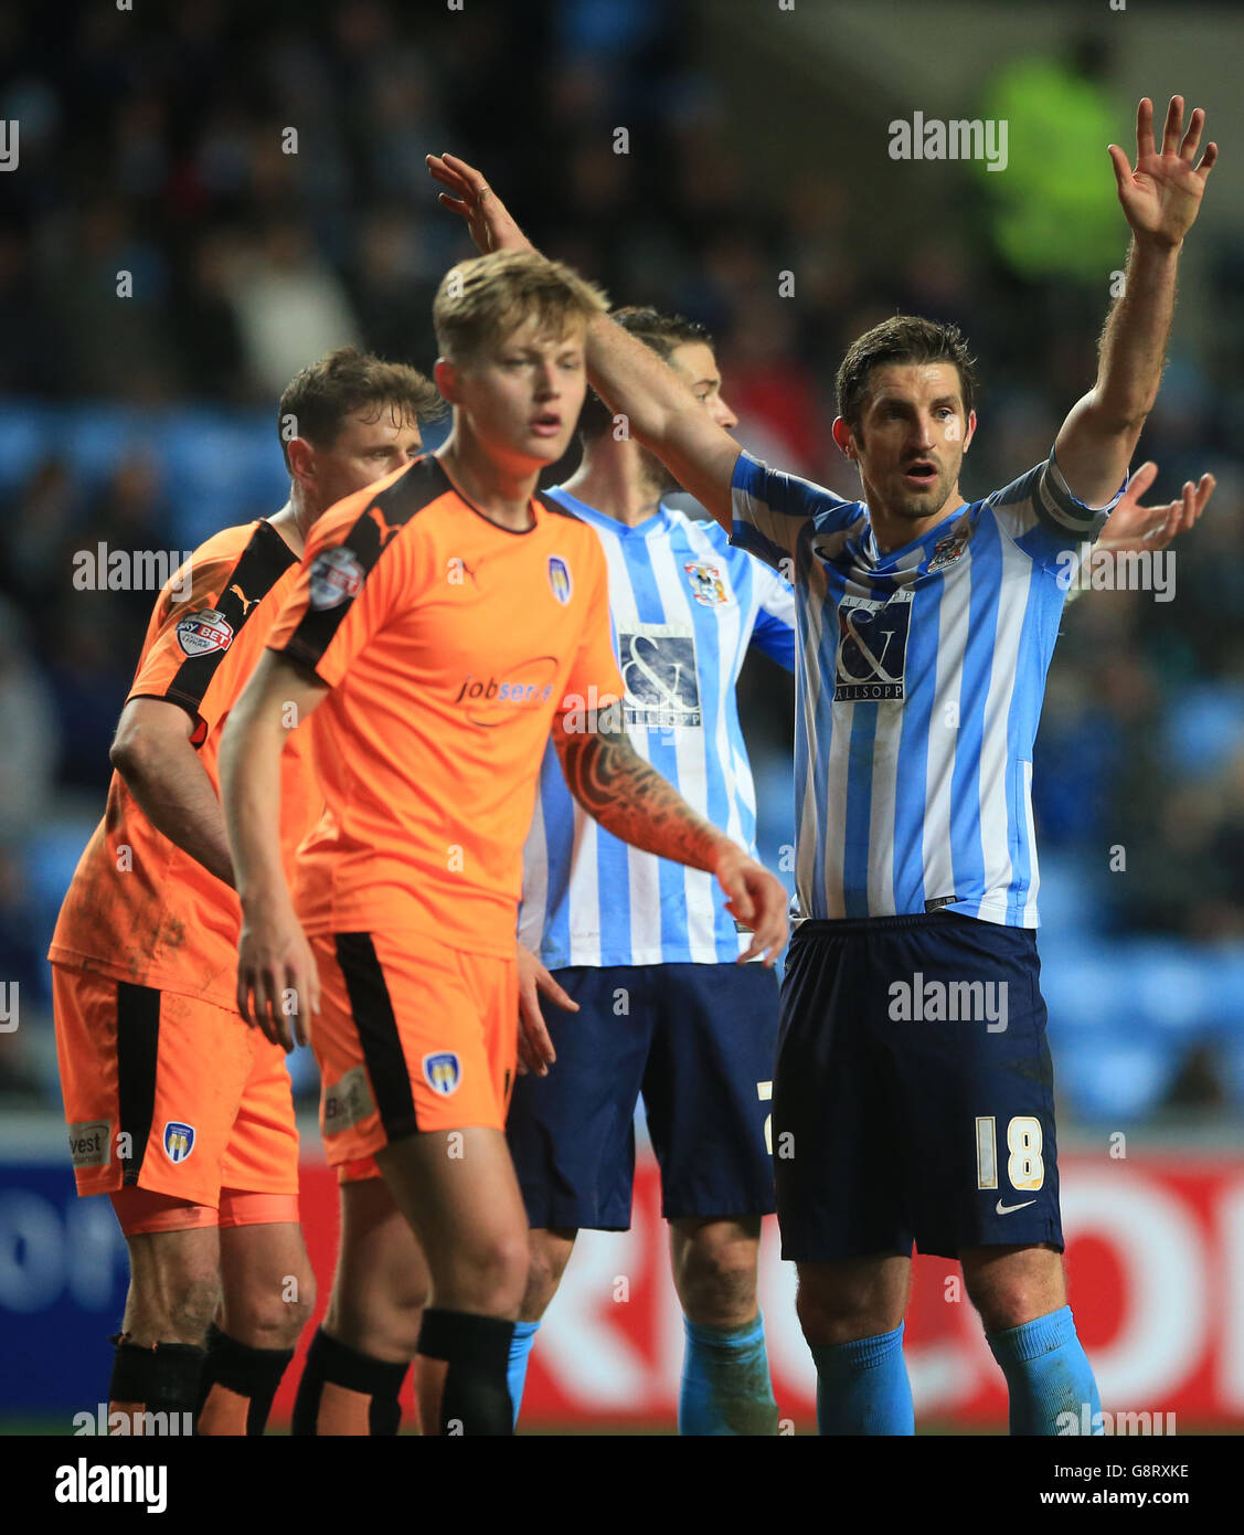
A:
[[[678,1395],[680,1434],[776,1434],[764,1319],[741,1328],[703,1328],[683,1317],[687,1348]]]

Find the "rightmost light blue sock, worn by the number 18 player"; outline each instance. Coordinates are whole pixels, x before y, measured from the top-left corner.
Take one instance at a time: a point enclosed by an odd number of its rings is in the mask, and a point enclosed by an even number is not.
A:
[[[1006,1375],[1012,1434],[1104,1432],[1100,1418],[1092,1426],[1101,1398],[1071,1306],[985,1337]]]

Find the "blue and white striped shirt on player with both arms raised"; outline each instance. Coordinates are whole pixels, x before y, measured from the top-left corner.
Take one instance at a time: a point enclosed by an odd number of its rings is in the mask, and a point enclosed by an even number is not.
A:
[[[796,594],[796,921],[946,907],[1037,926],[1032,743],[1058,554],[1095,539],[1118,494],[1083,507],[1051,454],[882,554],[861,502],[739,456],[732,542]]]

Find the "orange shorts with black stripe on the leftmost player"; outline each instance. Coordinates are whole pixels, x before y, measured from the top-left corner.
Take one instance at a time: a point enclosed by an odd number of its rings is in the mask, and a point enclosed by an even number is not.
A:
[[[80,1194],[298,1194],[285,1055],[238,1013],[58,964],[52,1007]]]

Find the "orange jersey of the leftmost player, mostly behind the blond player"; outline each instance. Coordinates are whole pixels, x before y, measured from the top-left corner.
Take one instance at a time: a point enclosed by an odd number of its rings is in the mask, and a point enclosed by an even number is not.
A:
[[[129,698],[167,698],[195,721],[190,737],[219,794],[216,754],[238,694],[298,577],[298,556],[267,522],[225,528],[160,594]],[[129,700],[126,700],[129,701]],[[322,809],[307,732],[281,763],[281,844],[288,875]],[[120,774],[78,861],[52,935],[57,964],[236,1008],[241,906],[235,890],[158,832]]]

